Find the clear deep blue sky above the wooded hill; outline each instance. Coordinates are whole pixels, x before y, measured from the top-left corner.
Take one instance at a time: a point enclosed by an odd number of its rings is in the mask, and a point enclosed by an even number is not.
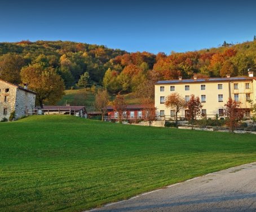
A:
[[[184,52],[251,41],[256,1],[1,0],[0,42],[76,41]]]

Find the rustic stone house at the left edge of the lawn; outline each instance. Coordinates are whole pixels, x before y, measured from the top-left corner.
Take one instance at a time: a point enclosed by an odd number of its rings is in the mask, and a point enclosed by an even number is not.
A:
[[[36,92],[27,89],[27,86],[19,86],[0,80],[0,121],[9,118],[15,111],[15,118],[25,116],[28,109],[34,109]]]

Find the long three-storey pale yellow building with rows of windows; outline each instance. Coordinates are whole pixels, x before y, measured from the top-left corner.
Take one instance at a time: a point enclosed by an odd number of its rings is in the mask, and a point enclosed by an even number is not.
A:
[[[188,101],[194,94],[198,96],[203,105],[201,113],[207,117],[213,118],[216,114],[223,116],[224,104],[228,98],[240,101],[240,108],[244,109],[245,116],[249,117],[250,103],[248,100],[256,99],[256,77],[253,72],[249,72],[249,77],[229,77],[226,78],[205,78],[167,80],[158,81],[155,84],[155,107],[157,116],[172,118],[174,117],[174,108],[165,107],[165,98],[177,92],[180,96]],[[186,110],[183,109],[178,113],[178,117],[185,117]]]

